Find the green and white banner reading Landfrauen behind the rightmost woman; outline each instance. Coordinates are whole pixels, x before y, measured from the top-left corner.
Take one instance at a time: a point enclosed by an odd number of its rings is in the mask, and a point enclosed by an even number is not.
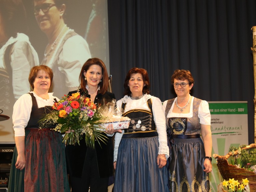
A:
[[[231,146],[247,145],[247,102],[219,101],[208,103],[211,112],[212,154],[226,155]],[[217,192],[217,185],[223,181],[223,178],[219,173],[216,160],[212,161],[212,167],[212,172],[209,174],[210,187],[212,192]]]

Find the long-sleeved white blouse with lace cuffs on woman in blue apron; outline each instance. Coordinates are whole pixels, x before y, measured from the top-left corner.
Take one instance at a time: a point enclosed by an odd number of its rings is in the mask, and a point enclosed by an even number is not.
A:
[[[169,157],[169,148],[167,146],[167,134],[166,134],[166,125],[165,125],[165,115],[162,108],[161,100],[157,97],[144,94],[144,97],[138,100],[133,100],[129,96],[124,96],[124,98],[118,100],[116,102],[117,107],[120,109],[122,108],[122,103],[127,103],[125,106],[125,111],[129,111],[132,109],[145,109],[149,110],[147,105],[147,100],[152,100],[152,110],[154,115],[154,121],[156,124],[156,131],[158,133],[158,141],[159,141],[159,151],[158,154],[165,154],[166,158]],[[117,160],[117,153],[118,153],[118,146],[121,141],[122,135],[124,134],[124,131],[122,133],[116,133],[115,135],[115,144],[114,144],[114,161]]]

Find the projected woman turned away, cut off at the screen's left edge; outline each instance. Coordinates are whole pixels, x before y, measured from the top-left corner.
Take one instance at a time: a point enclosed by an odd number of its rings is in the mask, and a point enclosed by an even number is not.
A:
[[[30,69],[39,64],[27,32],[21,0],[0,0],[0,109],[12,114],[15,101],[30,91]],[[8,112],[9,111],[9,112]]]

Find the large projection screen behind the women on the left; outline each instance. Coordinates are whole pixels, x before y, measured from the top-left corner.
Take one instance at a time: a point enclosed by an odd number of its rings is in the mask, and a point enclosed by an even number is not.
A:
[[[17,30],[19,33],[15,35],[8,34],[6,26],[10,24],[9,18],[5,18],[7,17],[5,10],[1,13],[0,8],[0,110],[3,111],[2,115],[10,117],[8,120],[0,121],[0,143],[14,143],[13,105],[21,95],[30,91],[28,75],[34,65],[45,64],[53,69],[55,79],[49,92],[54,92],[53,95],[59,99],[68,93],[70,87],[79,86],[79,73],[87,59],[100,58],[106,64],[109,73],[107,0],[63,0],[64,23],[70,31],[73,30],[83,38],[83,43],[86,41],[87,44],[84,43],[85,48],[81,49],[78,41],[80,37],[76,36],[77,39],[69,40],[67,45],[61,47],[61,43],[58,43],[63,40],[64,35],[60,35],[55,42],[58,44],[56,45],[58,50],[53,49],[50,53],[53,55],[51,59],[58,65],[54,62],[44,62],[49,38],[36,20],[34,3],[37,1],[22,1],[24,9],[20,8],[20,11],[16,11],[17,23],[12,24],[11,28],[26,27],[26,30]],[[41,1],[48,2],[48,0]],[[22,20],[24,12],[25,21]],[[7,20],[7,24],[1,24],[3,20]],[[8,38],[2,42],[3,31],[7,33]],[[58,54],[62,50],[66,50],[66,54]]]

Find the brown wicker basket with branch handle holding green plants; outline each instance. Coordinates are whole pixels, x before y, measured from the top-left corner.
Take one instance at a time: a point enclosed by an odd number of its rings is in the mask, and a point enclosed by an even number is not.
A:
[[[255,144],[248,145],[243,149],[250,148],[255,148]],[[217,154],[213,154],[213,156],[217,159],[217,167],[223,179],[229,180],[234,178],[234,180],[238,180],[238,182],[241,183],[242,179],[247,178],[249,180],[250,191],[256,192],[256,174],[253,171],[230,165],[227,160],[227,158],[231,156],[230,153],[226,156],[219,156]]]

